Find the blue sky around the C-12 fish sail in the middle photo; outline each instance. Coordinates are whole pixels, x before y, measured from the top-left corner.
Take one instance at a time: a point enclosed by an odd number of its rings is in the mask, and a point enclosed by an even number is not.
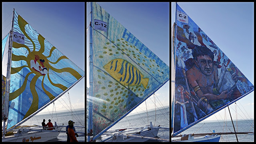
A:
[[[147,46],[156,56],[170,66],[170,3],[169,2],[97,2],[111,16]],[[90,3],[86,2],[86,28],[90,24]],[[89,14],[89,15],[88,15]],[[88,28],[89,29],[89,28]],[[86,37],[89,44],[89,30]],[[89,45],[86,47],[89,48]],[[88,65],[89,51],[86,51]],[[89,68],[89,66],[88,66]],[[87,82],[87,87],[89,82]],[[155,93],[164,106],[169,106],[169,81]],[[151,97],[150,97],[151,98]],[[152,98],[151,98],[152,99]],[[153,100],[153,99],[152,99]],[[148,109],[154,108],[150,99]],[[145,104],[141,104],[146,109]],[[160,106],[158,106],[160,107]],[[142,111],[136,108],[137,111]],[[132,112],[131,112],[132,113]],[[136,113],[136,111],[135,111]]]

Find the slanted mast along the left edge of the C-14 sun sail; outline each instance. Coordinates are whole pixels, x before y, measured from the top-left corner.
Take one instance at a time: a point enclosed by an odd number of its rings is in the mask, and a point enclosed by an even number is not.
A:
[[[9,37],[9,46],[8,46],[8,63],[7,63],[7,75],[6,75],[6,88],[5,88],[5,97],[4,97],[4,124],[3,124],[3,134],[5,135],[5,123],[8,118],[8,108],[9,108],[9,94],[10,94],[10,73],[11,73],[11,62],[12,62],[12,35],[13,35],[13,26],[14,26],[14,8],[12,12],[12,28],[10,30]]]

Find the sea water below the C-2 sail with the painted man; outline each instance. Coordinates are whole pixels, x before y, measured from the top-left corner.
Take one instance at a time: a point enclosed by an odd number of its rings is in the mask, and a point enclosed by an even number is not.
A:
[[[236,132],[254,132],[254,120],[233,120],[234,127]],[[224,122],[219,120],[219,122],[200,122],[194,126],[188,128],[180,134],[202,134],[202,133],[211,133],[213,130],[215,132],[234,132],[234,127],[231,121],[227,121],[224,125]],[[202,137],[194,137],[202,138]],[[254,135],[250,134],[237,134],[238,142],[254,142]],[[180,139],[172,138],[173,140]],[[235,134],[222,134],[220,137],[220,142],[236,142]]]

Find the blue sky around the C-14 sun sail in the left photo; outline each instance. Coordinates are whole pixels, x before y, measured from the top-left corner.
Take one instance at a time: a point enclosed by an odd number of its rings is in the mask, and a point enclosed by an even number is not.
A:
[[[46,40],[85,71],[85,2],[2,2],[2,38],[10,31],[13,8]],[[68,92],[74,108],[85,107],[85,78]],[[61,98],[68,104],[66,96],[67,93]],[[54,102],[56,110],[66,110],[59,102],[63,103],[61,98]],[[52,104],[48,109],[52,110]],[[48,112],[47,108],[42,112]]]

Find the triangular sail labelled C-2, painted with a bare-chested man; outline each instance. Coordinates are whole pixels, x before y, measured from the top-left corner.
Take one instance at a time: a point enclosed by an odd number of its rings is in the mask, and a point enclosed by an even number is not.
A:
[[[254,90],[220,48],[176,6],[173,136]]]

